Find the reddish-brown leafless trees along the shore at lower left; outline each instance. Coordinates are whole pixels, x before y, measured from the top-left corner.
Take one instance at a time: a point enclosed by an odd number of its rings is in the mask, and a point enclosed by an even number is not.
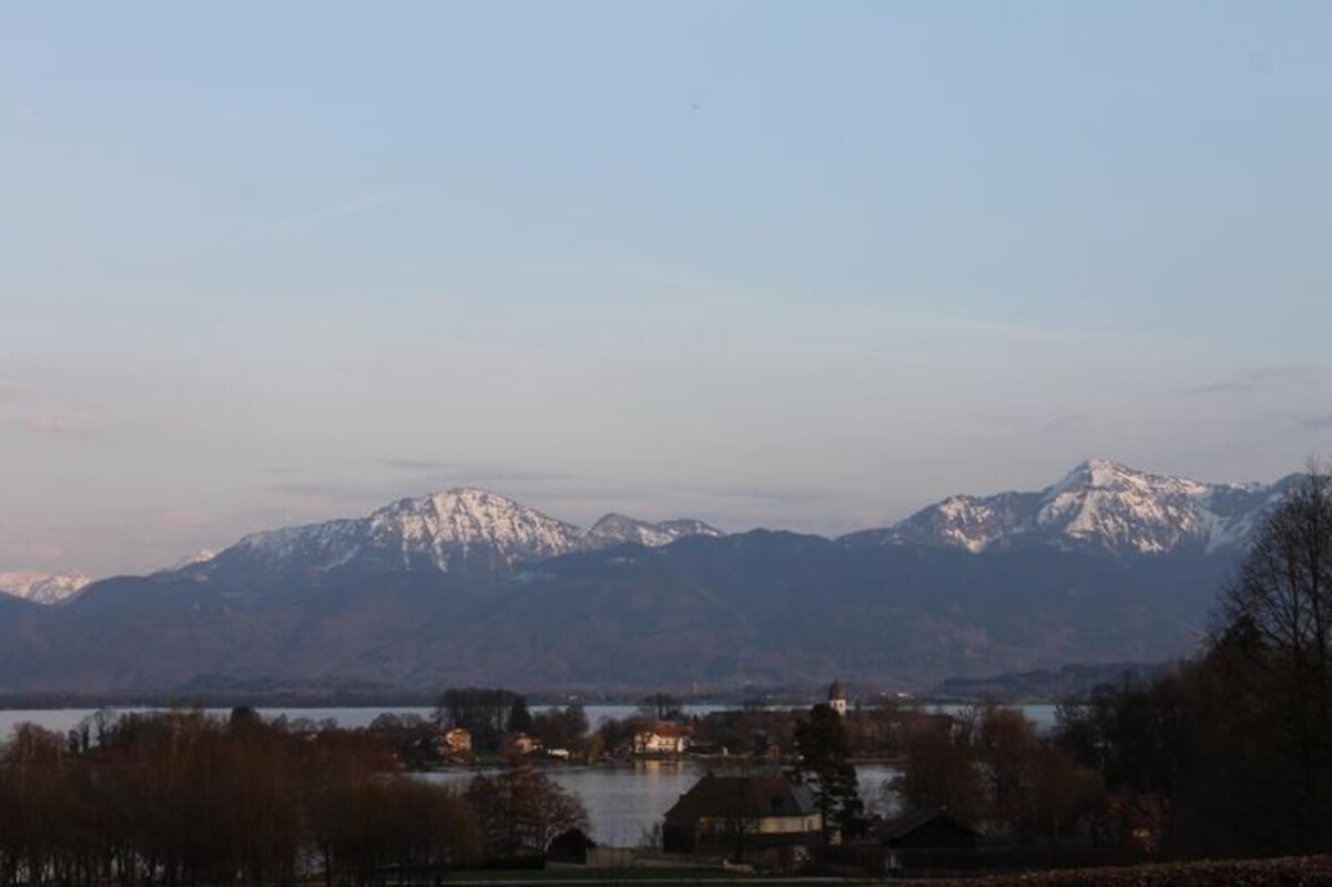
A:
[[[397,772],[369,731],[236,710],[127,715],[0,744],[0,884],[440,883],[539,858],[586,814],[538,771],[460,794]]]

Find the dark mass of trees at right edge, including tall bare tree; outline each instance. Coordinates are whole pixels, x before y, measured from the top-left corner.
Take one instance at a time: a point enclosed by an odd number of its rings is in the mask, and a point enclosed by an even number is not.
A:
[[[1070,707],[1112,791],[1168,799],[1183,855],[1332,851],[1332,477],[1313,466],[1223,589],[1205,654]]]

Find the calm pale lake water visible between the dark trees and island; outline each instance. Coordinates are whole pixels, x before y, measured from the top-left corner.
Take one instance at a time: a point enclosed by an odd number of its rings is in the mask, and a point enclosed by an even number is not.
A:
[[[956,713],[962,706],[922,706],[926,711]],[[533,706],[533,711],[541,711],[543,706]],[[694,706],[687,707],[687,714],[706,715],[711,711],[721,711],[725,706]],[[1031,718],[1038,729],[1048,730],[1055,723],[1055,706],[1035,705],[1020,706],[1022,711]],[[68,733],[80,721],[92,715],[95,709],[48,709],[48,710],[8,710],[0,711],[0,740],[9,737],[15,725],[36,723],[47,730]],[[117,711],[144,711],[144,709],[120,709]],[[434,714],[429,707],[405,709],[260,709],[265,718],[285,715],[288,719],[308,718],[310,721],[336,721],[340,727],[357,729],[368,727],[372,721],[392,711],[393,714],[416,714],[430,718]],[[587,706],[587,721],[595,730],[598,725],[609,718],[626,718],[634,714],[634,706]],[[228,709],[210,709],[209,714],[226,717]],[[591,820],[593,838],[601,843],[613,846],[637,844],[645,830],[661,822],[662,814],[670,808],[675,800],[689,791],[703,772],[707,771],[703,762],[639,762],[635,764],[617,766],[554,766],[549,770],[551,778],[569,791],[577,794],[587,807],[587,818]],[[476,772],[466,770],[448,770],[441,772],[422,774],[424,779],[436,782],[462,784]],[[888,779],[896,775],[896,770],[887,764],[860,764],[856,767],[860,783],[860,796],[870,806],[878,808],[891,807],[895,802],[891,792],[884,790]]]

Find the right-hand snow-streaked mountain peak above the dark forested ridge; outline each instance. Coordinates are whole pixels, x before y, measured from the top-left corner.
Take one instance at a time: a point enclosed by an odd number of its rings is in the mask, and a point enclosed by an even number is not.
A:
[[[992,546],[1047,543],[1164,554],[1241,545],[1287,481],[1200,483],[1090,459],[1040,491],[954,495],[884,530],[843,537],[850,543],[938,545],[979,553]]]

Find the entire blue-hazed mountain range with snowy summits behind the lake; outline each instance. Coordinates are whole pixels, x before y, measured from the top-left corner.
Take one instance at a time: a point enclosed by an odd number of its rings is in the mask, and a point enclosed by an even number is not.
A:
[[[454,489],[256,533],[60,606],[0,601],[0,689],[730,687],[829,674],[919,689],[1164,659],[1191,649],[1291,479],[1212,485],[1091,461],[1040,491],[956,495],[838,539],[621,514],[583,530]]]

